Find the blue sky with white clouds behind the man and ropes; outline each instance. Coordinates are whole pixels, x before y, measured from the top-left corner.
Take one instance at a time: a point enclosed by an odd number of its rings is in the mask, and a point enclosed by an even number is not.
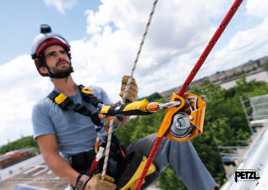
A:
[[[33,134],[32,107],[53,89],[30,56],[40,24],[49,24],[70,42],[76,84],[100,86],[116,102],[122,76],[131,73],[153,2],[2,2],[0,146]],[[182,85],[232,3],[159,0],[134,73],[138,96]],[[267,10],[268,1],[244,0],[195,79],[268,55]]]

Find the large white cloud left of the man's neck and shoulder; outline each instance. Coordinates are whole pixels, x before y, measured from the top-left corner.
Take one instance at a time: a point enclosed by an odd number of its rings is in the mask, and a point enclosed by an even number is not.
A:
[[[21,134],[32,135],[33,105],[47,95],[53,84],[38,74],[31,56],[18,56],[0,66],[0,146]]]

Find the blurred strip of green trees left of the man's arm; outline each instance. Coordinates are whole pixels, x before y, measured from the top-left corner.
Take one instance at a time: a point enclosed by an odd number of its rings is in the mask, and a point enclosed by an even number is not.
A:
[[[33,136],[23,137],[14,142],[10,142],[7,145],[1,146],[0,154],[4,154],[12,150],[19,150],[19,149],[31,148],[31,147],[36,147],[39,149],[37,142],[33,140]]]

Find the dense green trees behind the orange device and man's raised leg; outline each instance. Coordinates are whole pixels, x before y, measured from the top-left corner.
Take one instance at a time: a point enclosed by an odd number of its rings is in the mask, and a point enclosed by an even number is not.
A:
[[[241,77],[237,81],[237,86],[228,90],[208,82],[201,87],[192,87],[190,91],[206,102],[203,133],[193,138],[191,142],[210,174],[220,185],[223,184],[225,171],[217,146],[228,140],[244,140],[250,137],[239,96],[247,99],[248,95],[267,94],[266,89],[268,89],[268,83],[255,80],[246,82],[245,77]],[[163,102],[164,100],[151,101]],[[159,111],[150,116],[131,119],[129,123],[116,131],[116,134],[121,138],[122,143],[128,146],[139,138],[157,132],[164,114],[165,111]],[[163,190],[187,189],[171,166],[161,173],[159,182],[159,187]]]

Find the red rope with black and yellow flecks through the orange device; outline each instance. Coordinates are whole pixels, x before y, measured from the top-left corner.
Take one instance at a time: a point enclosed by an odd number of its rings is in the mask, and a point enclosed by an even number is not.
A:
[[[189,87],[190,83],[192,82],[193,78],[195,77],[196,73],[199,71],[200,67],[202,66],[202,64],[206,60],[207,56],[211,52],[211,49],[214,47],[214,45],[218,41],[219,37],[221,37],[221,34],[225,30],[226,26],[229,24],[230,20],[232,19],[232,17],[234,16],[236,10],[239,8],[239,6],[240,6],[240,4],[242,2],[243,2],[243,0],[235,0],[235,2],[233,3],[232,7],[228,11],[228,13],[225,15],[225,17],[222,20],[221,24],[219,25],[217,31],[215,32],[215,34],[213,35],[213,37],[209,41],[209,44],[207,45],[207,47],[205,48],[205,50],[201,54],[200,58],[196,62],[195,66],[193,67],[193,69],[191,71],[191,73],[189,74],[189,76],[185,80],[185,82],[182,85],[180,91],[177,93],[178,96],[183,96],[183,94],[185,93],[185,91]],[[148,169],[151,166],[152,161],[154,160],[154,157],[155,157],[155,155],[157,153],[157,150],[159,148],[159,145],[161,144],[162,139],[163,139],[163,136],[162,137],[157,137],[157,139],[155,141],[155,144],[154,144],[154,146],[153,146],[153,148],[151,150],[151,153],[150,153],[150,155],[148,157],[148,160],[147,160],[147,162],[146,162],[146,164],[144,166],[142,174],[140,175],[139,181],[137,182],[136,187],[135,187],[134,190],[140,190],[140,187],[142,187],[143,180],[145,179],[145,176],[146,176],[146,174],[148,172]]]

